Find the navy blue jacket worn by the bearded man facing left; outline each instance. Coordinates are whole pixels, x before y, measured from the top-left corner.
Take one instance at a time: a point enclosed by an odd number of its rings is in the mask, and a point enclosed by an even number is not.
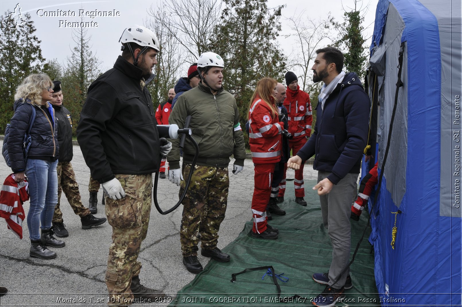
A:
[[[316,107],[315,132],[297,155],[308,160],[313,154],[313,168],[332,172],[327,177],[337,184],[347,173],[359,173],[366,146],[371,100],[356,73],[346,74],[328,96],[322,110]]]

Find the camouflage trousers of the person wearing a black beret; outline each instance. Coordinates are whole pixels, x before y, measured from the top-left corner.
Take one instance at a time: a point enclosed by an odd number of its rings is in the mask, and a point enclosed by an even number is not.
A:
[[[90,210],[83,205],[80,198],[79,184],[75,181],[75,173],[71,162],[58,162],[56,172],[58,173],[58,203],[55,206],[53,221],[55,223],[63,222],[62,212],[60,209],[62,191],[64,191],[67,201],[76,215],[79,215],[80,217],[89,215]]]

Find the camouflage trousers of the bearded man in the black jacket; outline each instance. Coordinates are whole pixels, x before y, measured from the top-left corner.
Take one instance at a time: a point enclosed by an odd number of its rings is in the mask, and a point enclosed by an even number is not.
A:
[[[108,305],[129,305],[127,300],[134,298],[130,285],[132,277],[140,274],[138,253],[149,225],[152,174],[116,175],[116,178],[125,190],[125,197],[105,198],[106,216],[112,226],[105,281]]]

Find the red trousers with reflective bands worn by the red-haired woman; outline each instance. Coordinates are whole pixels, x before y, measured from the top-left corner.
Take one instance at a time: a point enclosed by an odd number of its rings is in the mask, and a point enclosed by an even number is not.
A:
[[[266,208],[271,195],[271,182],[273,181],[276,163],[255,164],[254,195],[252,196],[252,217],[254,220],[254,233],[266,230]]]

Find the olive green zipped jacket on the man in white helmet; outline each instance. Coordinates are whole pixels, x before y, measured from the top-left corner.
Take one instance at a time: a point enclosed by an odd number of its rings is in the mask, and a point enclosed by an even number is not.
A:
[[[197,165],[227,167],[231,154],[234,154],[236,165],[244,165],[244,136],[239,123],[236,99],[230,92],[222,87],[213,95],[209,87],[199,83],[199,86],[184,92],[176,100],[169,123],[177,124],[182,129],[188,115],[191,116],[189,128],[192,129],[192,136],[199,145]],[[171,169],[177,169],[180,168],[180,137],[170,141],[173,148],[167,160]],[[183,162],[191,164],[194,154],[194,145],[186,139]]]

